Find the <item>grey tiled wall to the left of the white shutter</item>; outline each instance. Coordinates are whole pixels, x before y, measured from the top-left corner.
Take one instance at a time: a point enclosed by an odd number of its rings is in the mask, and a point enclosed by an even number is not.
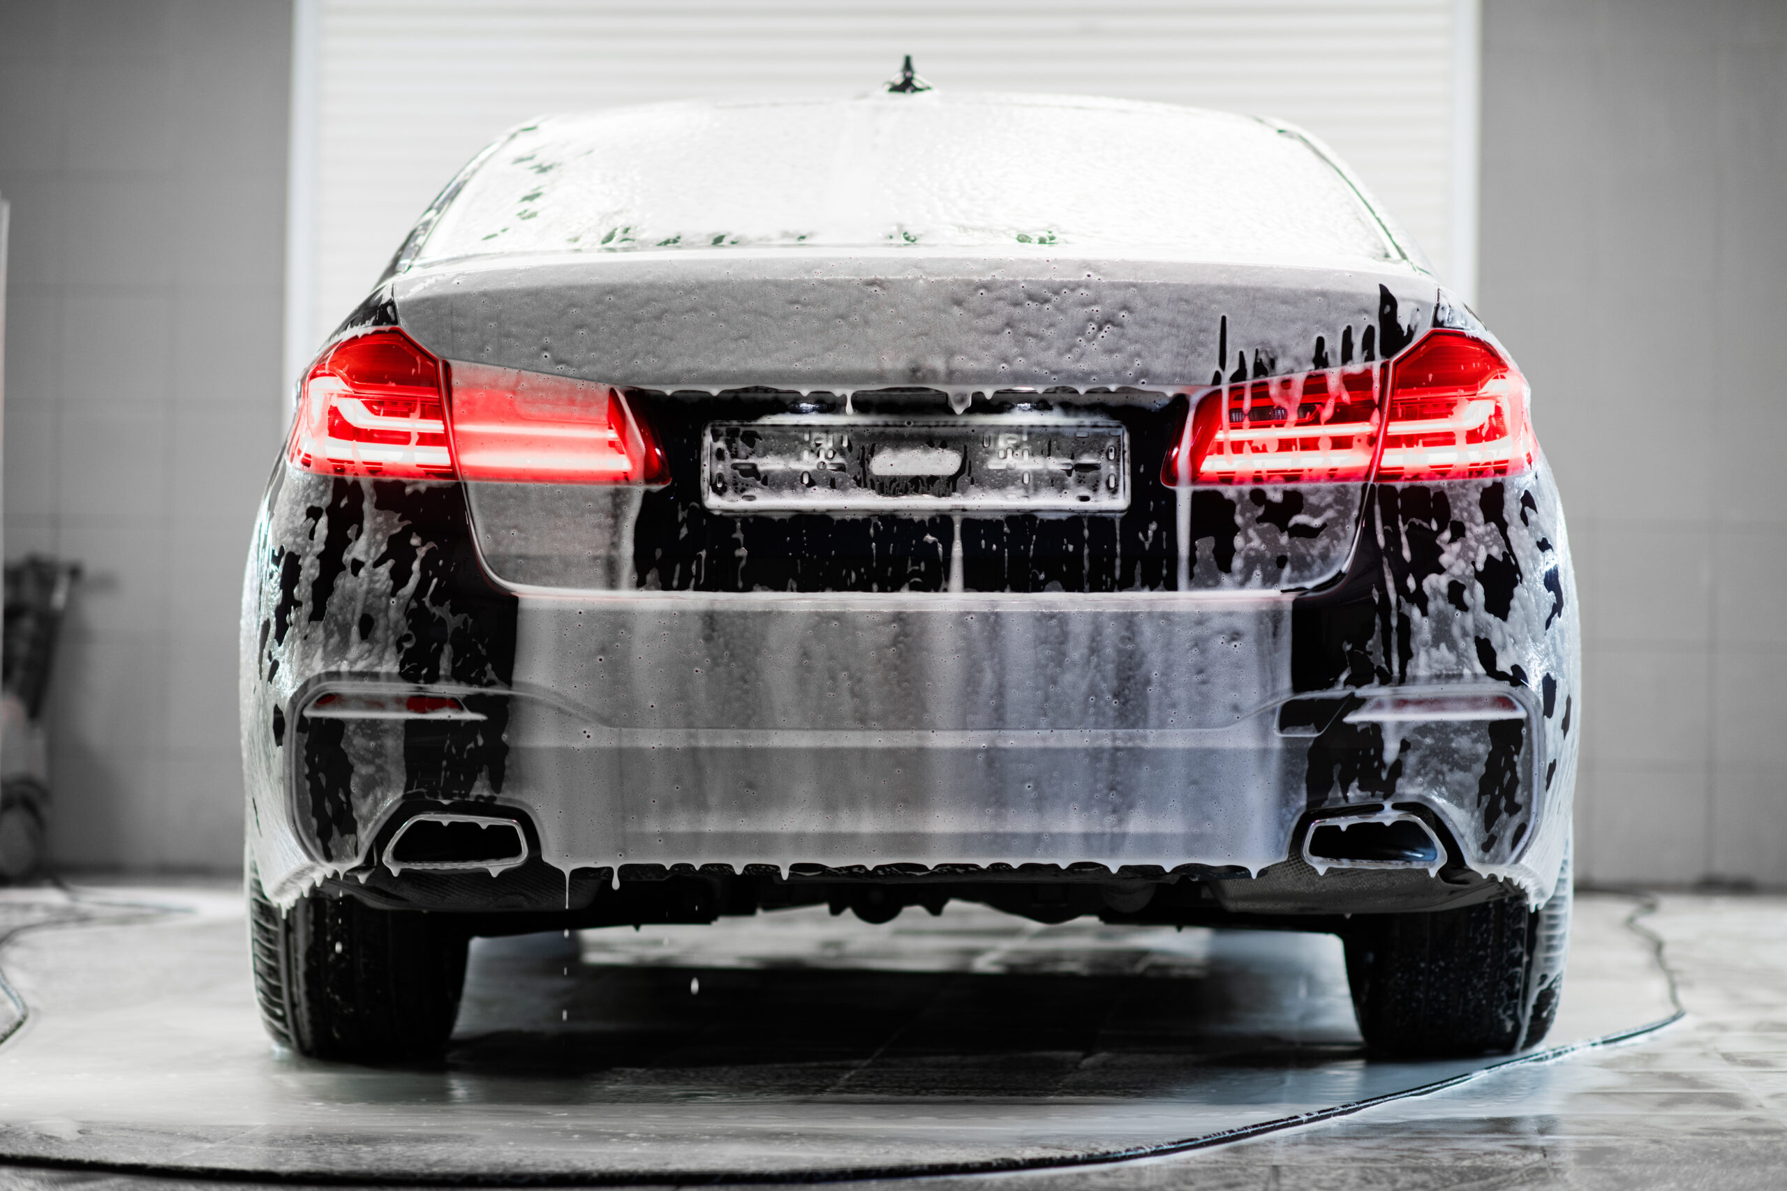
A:
[[[236,591],[279,436],[286,0],[0,4],[5,548],[88,570],[54,854],[241,854]]]

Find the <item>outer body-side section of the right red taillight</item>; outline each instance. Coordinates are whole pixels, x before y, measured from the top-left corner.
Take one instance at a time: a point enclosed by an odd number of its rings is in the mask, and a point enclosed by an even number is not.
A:
[[[1537,450],[1526,380],[1489,343],[1433,330],[1390,362],[1380,480],[1514,475],[1533,464]]]

